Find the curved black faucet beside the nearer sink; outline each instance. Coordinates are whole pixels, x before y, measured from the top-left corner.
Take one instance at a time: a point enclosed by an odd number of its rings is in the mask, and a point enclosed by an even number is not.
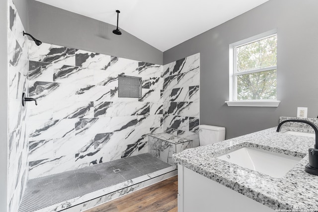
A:
[[[310,173],[310,174],[318,175],[318,149],[316,148],[316,147],[318,147],[318,127],[314,123],[307,121],[307,120],[290,119],[290,120],[285,120],[285,121],[279,123],[276,132],[279,132],[282,125],[285,124],[286,122],[305,123],[314,129],[316,142],[315,142],[314,148],[308,149],[309,163],[305,166],[305,171]]]

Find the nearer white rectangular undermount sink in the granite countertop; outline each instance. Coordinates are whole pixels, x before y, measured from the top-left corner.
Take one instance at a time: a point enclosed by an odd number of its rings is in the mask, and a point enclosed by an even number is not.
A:
[[[216,158],[275,178],[283,177],[302,159],[252,147],[241,147]]]

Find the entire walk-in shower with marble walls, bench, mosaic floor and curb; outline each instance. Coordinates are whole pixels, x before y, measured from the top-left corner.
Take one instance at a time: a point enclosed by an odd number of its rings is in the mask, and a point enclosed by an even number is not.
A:
[[[9,12],[10,212],[84,211],[177,173],[189,142],[152,137],[149,150],[149,135],[198,140],[199,54],[162,66],[40,45],[11,0]],[[119,75],[136,79],[125,95]]]

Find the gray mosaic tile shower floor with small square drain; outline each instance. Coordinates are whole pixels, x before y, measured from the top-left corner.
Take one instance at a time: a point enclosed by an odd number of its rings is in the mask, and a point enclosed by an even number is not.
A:
[[[31,179],[19,212],[34,212],[171,166],[145,153]]]

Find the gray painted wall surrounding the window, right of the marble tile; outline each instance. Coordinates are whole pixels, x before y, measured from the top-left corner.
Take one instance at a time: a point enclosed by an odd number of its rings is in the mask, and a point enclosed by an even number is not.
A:
[[[163,53],[163,64],[200,52],[200,124],[226,127],[226,138],[277,126],[308,107],[318,115],[318,1],[268,2]],[[228,107],[229,44],[277,28],[277,108]]]

